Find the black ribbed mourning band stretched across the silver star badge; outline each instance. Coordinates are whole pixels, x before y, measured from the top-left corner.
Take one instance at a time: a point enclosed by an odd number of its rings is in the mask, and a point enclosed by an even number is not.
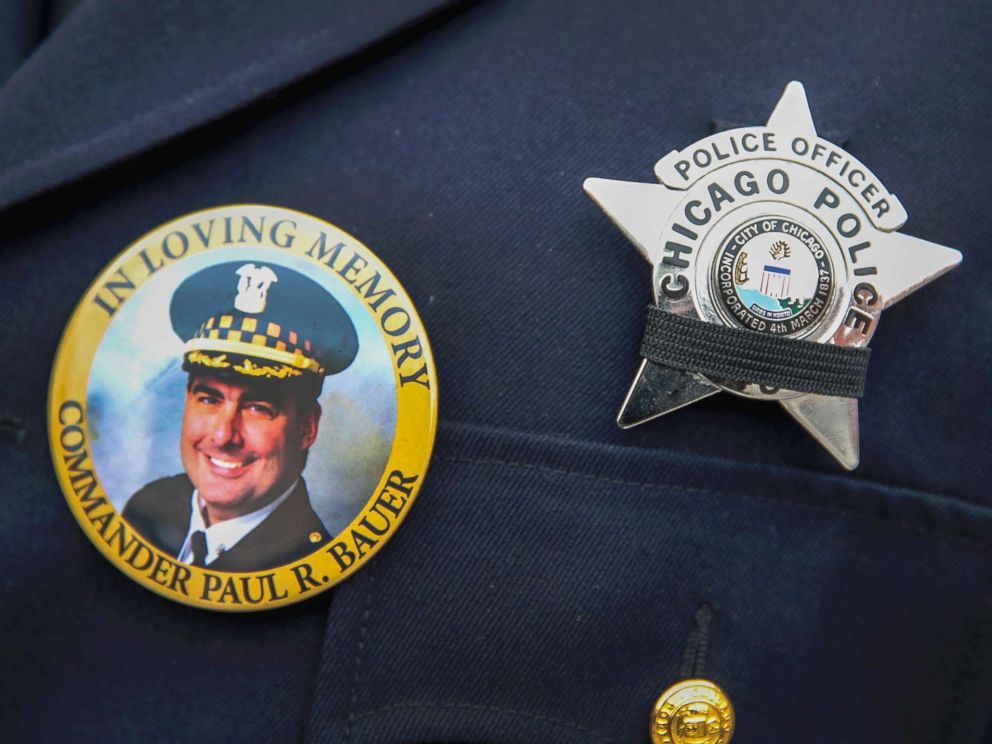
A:
[[[706,323],[648,306],[641,356],[673,369],[802,393],[860,398],[867,348]]]

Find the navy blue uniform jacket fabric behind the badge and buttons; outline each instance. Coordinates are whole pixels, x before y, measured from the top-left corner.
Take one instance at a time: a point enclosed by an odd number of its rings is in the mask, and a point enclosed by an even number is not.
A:
[[[642,743],[705,605],[734,744],[992,741],[990,15],[90,0],[26,58],[0,36],[19,61],[0,87],[2,738]],[[764,123],[793,79],[904,231],[965,256],[883,314],[853,473],[731,395],[614,423],[650,269],[582,181],[653,180],[668,151]],[[329,220],[390,266],[441,420],[371,566],[230,616],[94,550],[45,404],[103,266],[245,202]]]

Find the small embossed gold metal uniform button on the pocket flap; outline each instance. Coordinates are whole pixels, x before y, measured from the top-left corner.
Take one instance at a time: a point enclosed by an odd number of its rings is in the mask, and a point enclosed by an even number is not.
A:
[[[734,733],[730,698],[708,679],[684,679],[651,711],[653,744],[727,744]]]

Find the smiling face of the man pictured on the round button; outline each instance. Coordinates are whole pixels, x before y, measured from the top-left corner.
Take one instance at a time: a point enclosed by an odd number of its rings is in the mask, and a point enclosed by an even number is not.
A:
[[[211,523],[255,511],[303,470],[320,406],[206,375],[190,377],[180,450]]]

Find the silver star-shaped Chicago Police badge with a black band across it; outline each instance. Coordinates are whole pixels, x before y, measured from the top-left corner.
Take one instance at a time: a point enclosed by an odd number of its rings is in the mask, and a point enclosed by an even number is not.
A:
[[[961,254],[898,232],[899,199],[817,136],[799,82],[765,126],[672,151],[655,175],[660,184],[584,183],[654,270],[643,360],[617,423],[721,390],[775,400],[853,470],[881,312]]]

